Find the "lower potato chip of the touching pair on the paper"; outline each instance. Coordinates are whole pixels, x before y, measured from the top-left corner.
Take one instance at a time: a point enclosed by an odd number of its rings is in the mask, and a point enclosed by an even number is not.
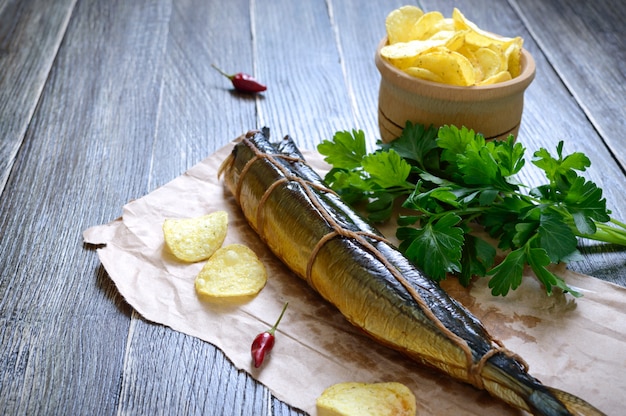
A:
[[[256,295],[267,282],[267,271],[257,255],[241,244],[215,252],[196,277],[196,292],[214,298]]]

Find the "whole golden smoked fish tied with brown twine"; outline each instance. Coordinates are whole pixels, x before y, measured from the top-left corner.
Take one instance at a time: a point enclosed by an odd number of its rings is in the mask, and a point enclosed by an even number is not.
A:
[[[543,385],[524,360],[424,275],[269,129],[239,138],[219,175],[296,275],[378,342],[535,415],[602,415]]]

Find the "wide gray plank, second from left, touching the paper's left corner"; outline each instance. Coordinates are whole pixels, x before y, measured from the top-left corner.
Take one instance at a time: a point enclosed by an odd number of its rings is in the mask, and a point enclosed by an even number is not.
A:
[[[81,234],[147,191],[169,13],[148,3],[77,4],[7,181],[0,413],[117,411],[130,311]]]

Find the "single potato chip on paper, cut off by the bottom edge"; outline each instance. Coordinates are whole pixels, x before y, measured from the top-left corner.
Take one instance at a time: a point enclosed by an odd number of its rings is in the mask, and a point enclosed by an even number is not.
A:
[[[402,383],[345,382],[330,386],[316,402],[318,416],[414,416],[415,396]]]

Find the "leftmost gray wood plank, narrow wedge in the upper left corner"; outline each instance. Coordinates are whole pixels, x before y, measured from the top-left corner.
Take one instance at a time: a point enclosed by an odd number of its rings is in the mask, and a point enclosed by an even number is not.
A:
[[[15,161],[75,0],[0,4],[0,193]]]

